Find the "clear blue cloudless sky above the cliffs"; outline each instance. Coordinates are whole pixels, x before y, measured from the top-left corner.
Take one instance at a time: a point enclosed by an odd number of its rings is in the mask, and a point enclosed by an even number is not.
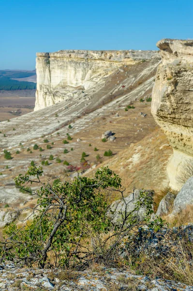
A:
[[[193,0],[0,0],[0,69],[34,69],[35,53],[157,49],[193,39]]]

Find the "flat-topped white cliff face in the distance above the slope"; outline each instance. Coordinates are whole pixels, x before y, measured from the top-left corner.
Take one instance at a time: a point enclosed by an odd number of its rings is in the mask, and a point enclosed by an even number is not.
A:
[[[69,100],[104,82],[121,65],[159,59],[157,51],[60,50],[37,53],[35,111]]]

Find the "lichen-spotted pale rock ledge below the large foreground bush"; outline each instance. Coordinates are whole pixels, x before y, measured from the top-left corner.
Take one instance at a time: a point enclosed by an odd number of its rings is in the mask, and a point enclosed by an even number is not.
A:
[[[193,291],[193,286],[160,278],[149,279],[143,275],[113,268],[84,272],[72,270],[19,269],[7,264],[0,270],[0,290],[60,290],[60,291]]]

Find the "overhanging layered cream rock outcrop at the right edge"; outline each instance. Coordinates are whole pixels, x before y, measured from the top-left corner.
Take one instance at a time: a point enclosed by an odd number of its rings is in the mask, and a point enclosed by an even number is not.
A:
[[[173,147],[167,172],[170,186],[178,190],[183,162],[193,162],[193,41],[163,39],[157,47],[162,63],[156,73],[151,112]]]

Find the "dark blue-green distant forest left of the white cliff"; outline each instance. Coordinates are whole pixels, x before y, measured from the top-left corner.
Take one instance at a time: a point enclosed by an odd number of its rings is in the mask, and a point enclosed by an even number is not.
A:
[[[0,90],[31,90],[36,89],[36,83],[28,81],[17,81],[12,78],[27,78],[34,76],[35,71],[11,71],[0,70]]]

